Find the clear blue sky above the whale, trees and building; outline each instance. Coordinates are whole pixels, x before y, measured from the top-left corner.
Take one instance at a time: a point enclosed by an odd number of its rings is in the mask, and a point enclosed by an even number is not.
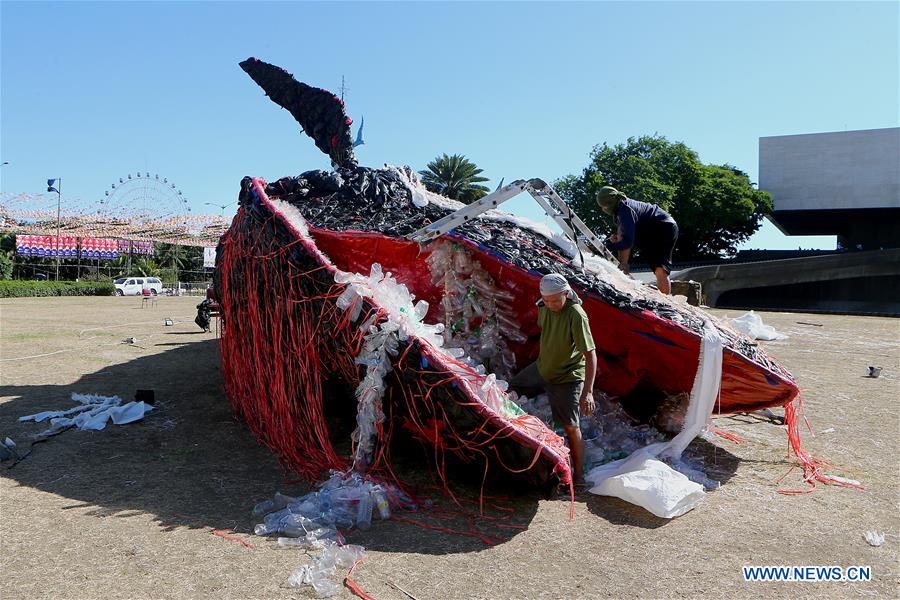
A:
[[[158,173],[219,213],[244,175],[328,168],[237,66],[337,91],[363,164],[462,153],[496,185],[659,133],[756,181],[761,136],[896,127],[897,2],[0,3],[3,192]],[[541,213],[517,199],[511,208]],[[226,212],[230,209],[226,209]],[[833,248],[766,224],[748,248]]]

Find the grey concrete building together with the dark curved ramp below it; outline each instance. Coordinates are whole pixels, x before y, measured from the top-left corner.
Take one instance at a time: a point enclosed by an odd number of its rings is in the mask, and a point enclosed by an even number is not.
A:
[[[706,302],[900,316],[900,128],[759,139],[759,188],[786,235],[836,235],[842,252],[675,274]]]

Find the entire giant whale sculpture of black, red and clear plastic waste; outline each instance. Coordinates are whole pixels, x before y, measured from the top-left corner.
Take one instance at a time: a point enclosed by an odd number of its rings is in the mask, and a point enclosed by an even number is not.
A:
[[[540,224],[492,210],[435,242],[407,236],[460,208],[407,167],[360,166],[343,102],[251,58],[241,67],[289,110],[333,170],[245,177],[222,237],[215,290],[234,410],[284,464],[315,479],[353,466],[391,473],[391,439],[483,478],[550,489],[570,481],[565,442],[525,413],[505,378],[536,358],[540,277],[581,296],[597,344],[598,393],[652,414],[689,394],[704,328],[722,340],[722,413],[784,406],[799,445],[799,390],[759,346],[704,311],[622,274]],[[350,412],[349,448],[330,415]]]

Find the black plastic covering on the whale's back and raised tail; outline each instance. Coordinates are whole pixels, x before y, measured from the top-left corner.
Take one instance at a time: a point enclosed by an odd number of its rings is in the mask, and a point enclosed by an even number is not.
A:
[[[453,212],[453,209],[431,202],[423,207],[416,206],[397,169],[359,166],[350,137],[352,121],[344,112],[343,102],[331,92],[300,83],[284,69],[256,58],[240,64],[274,102],[294,115],[315,140],[316,146],[331,156],[335,164],[334,171],[306,171],[295,177],[283,177],[266,187],[267,195],[296,206],[310,225],[334,231],[353,229],[405,236]],[[244,206],[252,204],[249,187],[250,178],[245,177],[241,182]],[[696,313],[679,310],[653,298],[632,298],[599,276],[581,269],[550,240],[529,229],[514,223],[476,218],[457,227],[453,233],[477,242],[528,271],[560,273],[581,290],[596,294],[620,309],[649,310],[702,335],[703,319]],[[758,364],[784,372],[748,339],[721,328],[719,333],[737,352]]]

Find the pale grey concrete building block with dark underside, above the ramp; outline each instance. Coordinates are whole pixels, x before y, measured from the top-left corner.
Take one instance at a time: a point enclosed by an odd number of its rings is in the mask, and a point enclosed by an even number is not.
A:
[[[759,138],[759,188],[785,235],[900,247],[900,128]]]

